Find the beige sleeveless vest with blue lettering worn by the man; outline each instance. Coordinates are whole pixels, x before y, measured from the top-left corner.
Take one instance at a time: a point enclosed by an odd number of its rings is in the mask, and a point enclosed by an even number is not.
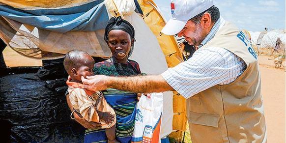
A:
[[[241,57],[246,70],[229,85],[208,88],[187,101],[193,143],[265,143],[266,124],[257,56],[244,33],[226,23],[205,47]]]

